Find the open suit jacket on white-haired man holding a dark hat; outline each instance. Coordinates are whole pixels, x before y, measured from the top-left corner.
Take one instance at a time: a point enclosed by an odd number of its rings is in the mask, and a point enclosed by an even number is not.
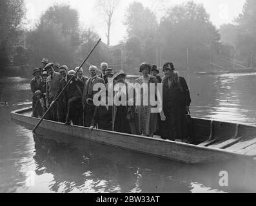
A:
[[[82,97],[83,108],[86,108],[87,106],[86,104],[87,98],[94,98],[94,95],[99,92],[99,91],[93,91],[94,85],[98,83],[105,84],[105,81],[104,79],[97,76],[90,78],[86,81],[83,89],[83,97]]]

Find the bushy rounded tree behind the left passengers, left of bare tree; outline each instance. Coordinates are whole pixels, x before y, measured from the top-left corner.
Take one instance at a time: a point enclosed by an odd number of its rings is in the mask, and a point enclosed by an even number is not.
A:
[[[51,62],[74,66],[80,44],[78,12],[69,5],[54,5],[42,15],[26,39],[30,64],[38,66],[43,57]]]

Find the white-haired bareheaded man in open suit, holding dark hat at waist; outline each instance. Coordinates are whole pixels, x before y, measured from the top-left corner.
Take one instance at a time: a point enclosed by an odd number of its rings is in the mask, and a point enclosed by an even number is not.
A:
[[[90,66],[90,79],[88,79],[85,83],[83,90],[82,103],[84,108],[84,126],[90,127],[92,122],[92,117],[94,115],[95,106],[93,102],[94,95],[98,93],[98,91],[93,91],[95,84],[104,84],[104,79],[97,76],[97,67]]]

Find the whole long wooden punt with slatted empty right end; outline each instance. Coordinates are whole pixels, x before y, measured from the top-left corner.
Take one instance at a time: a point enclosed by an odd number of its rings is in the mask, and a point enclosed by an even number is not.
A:
[[[19,109],[12,112],[12,119],[32,128],[39,118],[31,117],[31,113],[32,108]],[[188,164],[255,160],[256,127],[201,118],[192,118],[192,125],[193,138],[189,144],[99,129],[90,131],[86,127],[65,126],[50,120],[43,120],[39,127],[69,135],[70,138],[83,138]]]

